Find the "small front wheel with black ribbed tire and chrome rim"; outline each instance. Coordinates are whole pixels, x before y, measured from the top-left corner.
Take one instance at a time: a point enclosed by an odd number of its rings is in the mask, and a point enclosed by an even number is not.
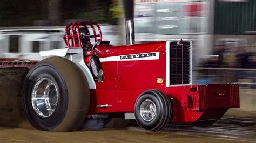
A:
[[[147,131],[158,131],[171,120],[171,102],[163,92],[146,90],[137,99],[134,115],[138,125]]]

